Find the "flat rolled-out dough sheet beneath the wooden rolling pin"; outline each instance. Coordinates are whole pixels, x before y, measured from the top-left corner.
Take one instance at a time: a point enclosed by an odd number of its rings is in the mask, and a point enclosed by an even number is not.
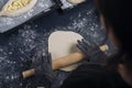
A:
[[[77,40],[81,40],[82,36],[70,31],[57,31],[51,34],[48,37],[48,52],[52,54],[52,58],[56,59],[63,56],[67,56],[72,53],[79,52],[76,47]],[[70,72],[75,69],[78,64],[74,64],[61,70]]]

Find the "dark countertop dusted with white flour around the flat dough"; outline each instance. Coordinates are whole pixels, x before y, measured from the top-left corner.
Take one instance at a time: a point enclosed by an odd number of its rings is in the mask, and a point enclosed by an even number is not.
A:
[[[91,45],[100,44],[106,36],[92,1],[63,13],[53,11],[0,34],[0,88],[35,88],[35,84],[42,81],[36,77],[22,79],[21,72],[37,64],[32,57],[45,51],[48,35],[54,31],[77,32],[85,38],[92,40]],[[111,51],[112,46],[107,54],[110,55]],[[58,79],[53,88],[57,88],[69,73],[56,70],[55,74]],[[46,84],[45,80],[44,82]]]

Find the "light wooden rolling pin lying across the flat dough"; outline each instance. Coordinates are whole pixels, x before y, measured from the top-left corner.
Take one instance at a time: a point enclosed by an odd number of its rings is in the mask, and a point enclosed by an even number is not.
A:
[[[108,51],[109,47],[108,47],[108,45],[102,45],[102,46],[100,46],[100,50],[102,52],[105,52],[105,51]],[[85,58],[85,55],[80,52],[73,53],[70,55],[61,57],[58,59],[53,61],[53,65],[52,65],[53,70],[59,69],[62,67],[69,66],[69,65],[75,64],[75,63],[79,63],[84,58]],[[23,76],[23,78],[28,78],[30,76],[33,76],[34,74],[35,74],[35,68],[32,68],[32,69],[23,72],[22,76]]]

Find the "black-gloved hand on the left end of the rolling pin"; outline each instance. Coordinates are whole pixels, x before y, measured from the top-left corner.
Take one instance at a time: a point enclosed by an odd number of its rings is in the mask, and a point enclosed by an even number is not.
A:
[[[45,77],[52,84],[55,79],[53,69],[52,69],[52,57],[51,54],[42,55],[40,57],[40,66],[35,68],[35,76]]]

